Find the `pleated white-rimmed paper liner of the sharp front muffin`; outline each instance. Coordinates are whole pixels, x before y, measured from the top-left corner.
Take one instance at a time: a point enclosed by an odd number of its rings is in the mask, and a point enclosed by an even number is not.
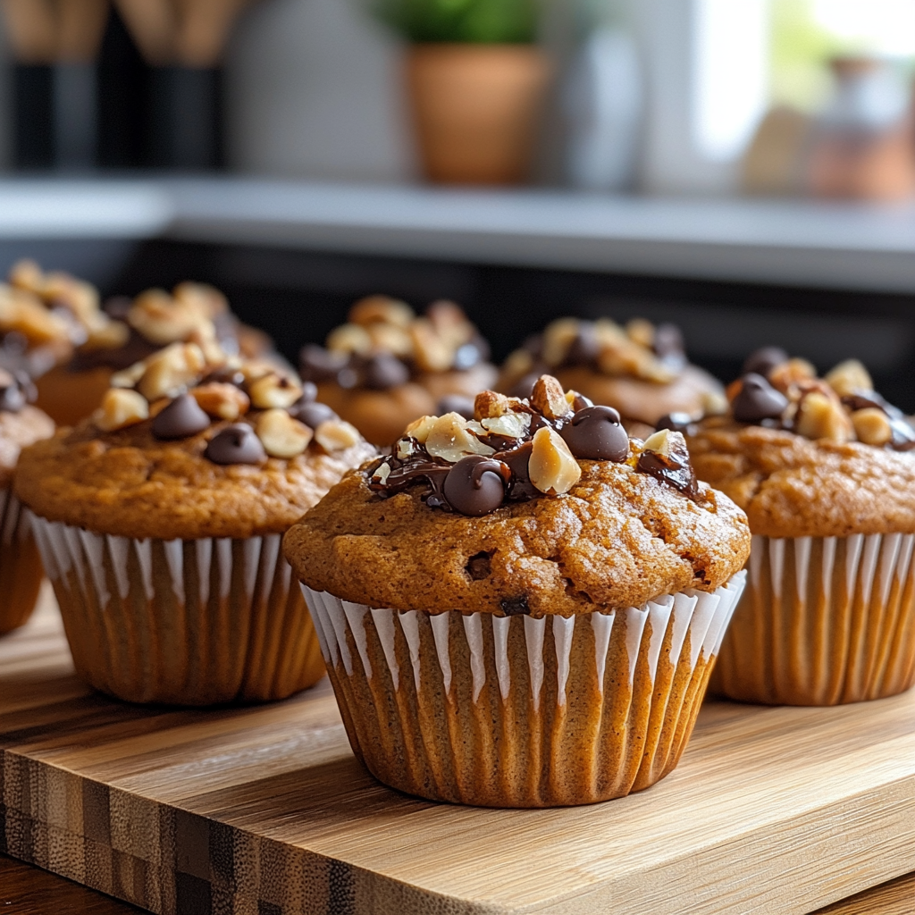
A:
[[[303,591],[350,744],[377,779],[438,801],[547,807],[673,770],[745,577],[569,619]]]

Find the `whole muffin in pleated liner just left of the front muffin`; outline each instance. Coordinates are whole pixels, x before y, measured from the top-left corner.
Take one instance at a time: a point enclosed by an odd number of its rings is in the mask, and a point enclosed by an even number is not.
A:
[[[131,702],[279,699],[324,669],[281,536],[374,454],[294,375],[175,343],[24,450],[77,671]]]

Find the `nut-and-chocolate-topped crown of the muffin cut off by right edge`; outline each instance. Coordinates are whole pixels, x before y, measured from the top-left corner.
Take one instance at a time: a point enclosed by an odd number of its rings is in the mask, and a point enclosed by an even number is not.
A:
[[[748,359],[716,416],[673,414],[699,479],[747,512],[753,533],[841,537],[915,532],[915,429],[858,361],[817,378],[766,348]]]

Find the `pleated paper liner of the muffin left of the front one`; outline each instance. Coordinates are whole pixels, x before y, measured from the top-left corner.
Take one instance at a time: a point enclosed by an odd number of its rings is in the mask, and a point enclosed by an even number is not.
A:
[[[76,669],[102,693],[213,705],[323,675],[281,534],[135,540],[33,517]]]

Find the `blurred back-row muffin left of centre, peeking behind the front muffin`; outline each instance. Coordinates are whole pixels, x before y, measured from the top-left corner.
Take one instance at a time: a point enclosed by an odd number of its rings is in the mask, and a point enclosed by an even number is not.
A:
[[[326,349],[302,350],[300,372],[318,384],[321,403],[370,442],[390,445],[443,399],[463,398],[472,409],[476,394],[495,382],[489,352],[452,302],[434,302],[417,318],[403,302],[370,296],[330,333]]]

